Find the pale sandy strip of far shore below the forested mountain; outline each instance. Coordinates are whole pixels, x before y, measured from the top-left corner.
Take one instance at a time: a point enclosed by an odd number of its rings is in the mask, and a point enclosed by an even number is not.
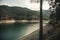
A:
[[[0,24],[1,23],[27,23],[27,22],[40,22],[39,20],[2,20],[0,21]],[[43,23],[46,23],[48,22],[48,20],[43,20]]]

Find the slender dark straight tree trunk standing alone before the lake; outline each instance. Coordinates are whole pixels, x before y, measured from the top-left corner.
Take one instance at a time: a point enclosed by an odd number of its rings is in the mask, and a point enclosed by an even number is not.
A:
[[[40,2],[40,31],[39,31],[39,33],[40,33],[40,36],[39,36],[39,38],[40,38],[40,40],[43,40],[43,14],[42,14],[42,1],[43,0],[31,0],[31,2],[36,2],[36,3],[38,3],[38,2]]]

